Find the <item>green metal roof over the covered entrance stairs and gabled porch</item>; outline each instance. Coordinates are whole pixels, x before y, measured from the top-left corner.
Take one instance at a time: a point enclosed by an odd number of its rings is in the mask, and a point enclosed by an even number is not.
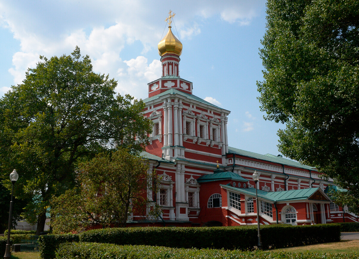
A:
[[[256,196],[255,188],[238,188],[232,187],[229,185],[223,185],[225,189],[236,190],[237,192],[244,193],[250,196]],[[319,188],[305,188],[299,190],[284,190],[280,192],[266,192],[264,190],[257,190],[258,198],[269,200],[272,202],[283,202],[283,201],[298,201],[298,200],[306,200],[309,199],[314,193],[317,191],[321,192],[321,194],[330,201],[330,198]]]

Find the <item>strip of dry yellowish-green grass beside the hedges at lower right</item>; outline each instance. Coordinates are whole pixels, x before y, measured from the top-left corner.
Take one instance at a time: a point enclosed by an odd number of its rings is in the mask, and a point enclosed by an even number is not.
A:
[[[305,245],[290,248],[275,249],[273,251],[286,251],[292,253],[311,252],[311,253],[359,253],[359,240],[342,240],[340,242]]]

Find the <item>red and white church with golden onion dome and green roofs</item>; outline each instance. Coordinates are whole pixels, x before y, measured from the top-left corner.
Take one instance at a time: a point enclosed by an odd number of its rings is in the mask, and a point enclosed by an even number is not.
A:
[[[316,168],[281,155],[256,154],[228,145],[230,111],[192,94],[192,82],[180,77],[182,43],[171,31],[158,43],[162,77],[148,84],[144,116],[153,121],[143,152],[152,171],[162,176],[151,204],[162,207],[158,224],[166,226],[238,226],[257,224],[257,183],[262,224],[357,222],[346,206],[326,194],[331,182]],[[129,225],[148,225],[134,216]]]

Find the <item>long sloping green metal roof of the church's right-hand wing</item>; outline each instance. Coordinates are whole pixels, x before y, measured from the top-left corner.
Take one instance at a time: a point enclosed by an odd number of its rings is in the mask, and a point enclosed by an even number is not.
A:
[[[228,153],[241,155],[241,156],[248,156],[248,157],[252,157],[255,159],[269,161],[272,163],[284,164],[284,165],[294,166],[294,167],[298,167],[298,168],[302,168],[302,169],[317,171],[317,169],[315,167],[303,165],[303,164],[300,164],[299,162],[296,162],[296,161],[293,161],[290,159],[286,159],[281,156],[275,156],[275,155],[271,155],[271,154],[261,155],[261,154],[257,154],[257,153],[246,151],[246,150],[236,149],[234,147],[228,147]]]

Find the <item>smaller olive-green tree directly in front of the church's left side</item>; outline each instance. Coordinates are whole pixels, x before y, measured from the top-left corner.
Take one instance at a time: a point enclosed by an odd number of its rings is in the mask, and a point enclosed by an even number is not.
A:
[[[147,169],[141,157],[122,149],[81,163],[78,187],[51,202],[53,231],[79,232],[96,224],[125,227],[134,210],[146,215],[147,190],[155,177]]]

